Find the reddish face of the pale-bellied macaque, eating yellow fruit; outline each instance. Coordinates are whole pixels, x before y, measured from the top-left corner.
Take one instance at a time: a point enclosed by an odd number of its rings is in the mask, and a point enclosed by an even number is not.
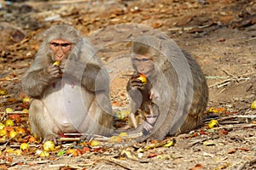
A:
[[[54,58],[57,61],[67,59],[68,54],[71,51],[72,44],[62,39],[53,39],[49,42],[49,48],[53,50]]]

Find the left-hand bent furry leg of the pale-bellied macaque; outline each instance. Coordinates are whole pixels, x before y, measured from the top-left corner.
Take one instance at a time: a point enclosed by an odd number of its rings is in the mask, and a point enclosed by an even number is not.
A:
[[[29,120],[32,128],[32,133],[37,134],[39,138],[52,140],[56,143],[56,139],[59,138],[55,122],[49,116],[49,112],[42,100],[32,99],[32,103],[29,109]]]

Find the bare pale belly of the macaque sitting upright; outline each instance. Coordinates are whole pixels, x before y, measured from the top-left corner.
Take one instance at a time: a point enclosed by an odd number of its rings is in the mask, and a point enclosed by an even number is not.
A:
[[[78,133],[87,117],[90,94],[79,82],[60,79],[51,82],[44,92],[44,107],[55,122],[54,133]],[[86,127],[84,127],[86,128]]]

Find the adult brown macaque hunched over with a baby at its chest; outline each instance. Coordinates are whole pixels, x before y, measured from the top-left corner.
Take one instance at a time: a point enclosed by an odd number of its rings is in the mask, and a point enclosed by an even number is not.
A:
[[[137,141],[162,140],[166,135],[186,133],[200,126],[207,107],[208,88],[195,59],[166,36],[138,37],[132,42],[131,52],[135,71],[145,75],[151,87],[147,88],[137,77],[131,77],[127,83],[131,97],[130,119],[137,127],[129,133],[148,132]],[[148,128],[145,124],[138,126],[134,118],[137,110],[145,109],[141,106],[145,98],[154,104],[150,115],[156,116]]]

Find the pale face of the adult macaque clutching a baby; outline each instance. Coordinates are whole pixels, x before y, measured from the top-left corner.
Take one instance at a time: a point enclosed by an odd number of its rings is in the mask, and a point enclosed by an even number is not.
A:
[[[152,57],[146,55],[137,55],[133,59],[134,65],[137,68],[137,71],[146,77],[154,76],[154,62]]]

